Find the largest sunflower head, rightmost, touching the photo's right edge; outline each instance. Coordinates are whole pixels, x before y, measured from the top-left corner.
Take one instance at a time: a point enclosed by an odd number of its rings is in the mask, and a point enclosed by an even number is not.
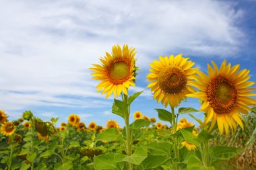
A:
[[[225,130],[228,134],[229,127],[232,132],[236,131],[236,123],[243,129],[243,117],[239,114],[247,114],[251,111],[248,105],[255,105],[256,100],[249,96],[255,95],[250,91],[256,88],[248,88],[254,83],[247,81],[250,76],[249,70],[238,71],[240,65],[231,67],[226,60],[222,62],[220,70],[215,62],[212,61],[213,68],[207,65],[208,76],[198,71],[196,82],[193,83],[200,91],[189,94],[189,97],[197,97],[202,101],[201,112],[207,113],[207,117],[202,125],[212,120],[209,130],[212,130],[214,124],[218,124],[220,134]]]

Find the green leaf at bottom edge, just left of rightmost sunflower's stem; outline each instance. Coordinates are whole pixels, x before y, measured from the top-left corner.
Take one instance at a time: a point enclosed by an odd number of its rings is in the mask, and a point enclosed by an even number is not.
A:
[[[188,170],[214,170],[214,167],[204,167],[203,163],[195,155],[191,155],[187,161]]]

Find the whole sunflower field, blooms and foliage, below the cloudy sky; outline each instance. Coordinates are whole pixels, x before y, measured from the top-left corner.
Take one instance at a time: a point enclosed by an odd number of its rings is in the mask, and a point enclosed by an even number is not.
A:
[[[143,93],[129,93],[139,70],[135,55],[134,48],[115,45],[90,68],[100,81],[96,90],[113,95],[110,108],[124,127],[115,120],[86,125],[76,114],[57,126],[58,118],[43,121],[30,110],[9,120],[0,110],[0,169],[256,169],[256,88],[249,70],[212,61],[205,74],[181,54],[159,56],[146,77],[153,99],[162,103],[152,108],[162,120],[156,122],[131,113]],[[187,97],[198,98],[201,108],[184,108]]]

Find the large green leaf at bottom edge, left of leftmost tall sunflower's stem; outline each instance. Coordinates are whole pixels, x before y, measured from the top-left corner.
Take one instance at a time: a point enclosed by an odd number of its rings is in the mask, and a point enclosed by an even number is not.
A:
[[[95,170],[123,170],[125,163],[117,163],[115,157],[119,157],[119,153],[106,153],[104,155],[94,157],[94,168]]]

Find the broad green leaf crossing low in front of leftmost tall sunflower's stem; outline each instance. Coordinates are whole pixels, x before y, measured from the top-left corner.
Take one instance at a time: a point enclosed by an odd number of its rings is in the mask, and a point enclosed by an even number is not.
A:
[[[128,162],[133,163],[135,165],[141,164],[141,162],[146,159],[147,157],[147,151],[144,148],[137,147],[135,148],[135,152],[131,156],[127,155],[116,155],[115,161],[117,162]]]

